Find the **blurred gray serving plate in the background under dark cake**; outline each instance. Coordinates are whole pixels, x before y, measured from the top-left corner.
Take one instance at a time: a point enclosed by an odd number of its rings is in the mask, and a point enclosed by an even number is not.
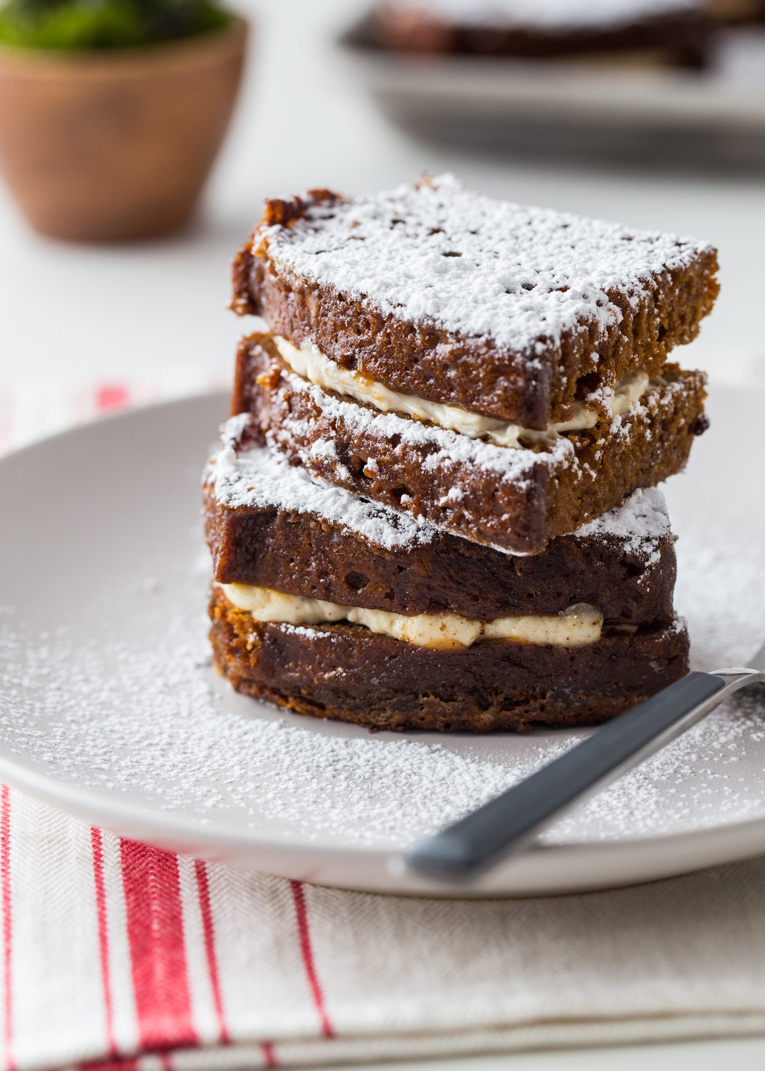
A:
[[[369,19],[340,51],[384,114],[429,140],[656,169],[765,169],[765,29],[720,35],[707,71],[424,56]]]

